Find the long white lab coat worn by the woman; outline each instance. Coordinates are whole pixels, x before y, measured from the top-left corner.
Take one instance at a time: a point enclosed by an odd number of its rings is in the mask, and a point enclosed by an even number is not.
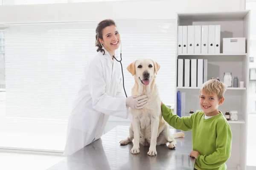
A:
[[[104,49],[104,48],[103,48]],[[85,66],[81,87],[70,114],[64,156],[102,136],[109,116],[128,118],[120,64],[105,50]]]

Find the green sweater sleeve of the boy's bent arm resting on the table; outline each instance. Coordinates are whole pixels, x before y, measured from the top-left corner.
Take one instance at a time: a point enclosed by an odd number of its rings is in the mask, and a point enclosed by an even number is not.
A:
[[[216,151],[210,155],[199,155],[196,158],[198,166],[205,169],[220,167],[230,157],[231,143],[230,126],[225,123],[222,127],[217,128]]]

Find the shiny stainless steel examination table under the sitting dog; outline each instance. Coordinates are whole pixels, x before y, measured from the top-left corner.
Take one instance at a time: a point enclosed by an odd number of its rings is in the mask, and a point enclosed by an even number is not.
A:
[[[157,156],[148,156],[148,146],[140,146],[140,153],[130,153],[133,143],[121,146],[128,137],[128,126],[116,126],[100,139],[66,157],[48,170],[193,170],[195,159],[192,151],[191,131],[184,138],[177,138],[171,150],[167,145],[157,146]],[[171,132],[176,132],[171,129]]]

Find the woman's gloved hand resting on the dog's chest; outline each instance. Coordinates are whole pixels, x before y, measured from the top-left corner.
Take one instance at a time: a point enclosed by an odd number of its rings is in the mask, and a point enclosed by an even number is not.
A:
[[[130,96],[126,98],[126,105],[133,109],[144,108],[144,104],[147,103],[148,98],[146,95],[143,96]]]

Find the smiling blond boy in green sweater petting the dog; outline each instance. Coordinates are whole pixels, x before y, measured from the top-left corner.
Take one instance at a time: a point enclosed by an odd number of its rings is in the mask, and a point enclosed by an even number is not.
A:
[[[192,130],[193,151],[196,170],[226,170],[225,162],[230,157],[232,133],[227,119],[218,111],[224,102],[226,85],[210,79],[200,89],[200,106],[192,116],[179,117],[161,102],[163,118],[175,129]]]

